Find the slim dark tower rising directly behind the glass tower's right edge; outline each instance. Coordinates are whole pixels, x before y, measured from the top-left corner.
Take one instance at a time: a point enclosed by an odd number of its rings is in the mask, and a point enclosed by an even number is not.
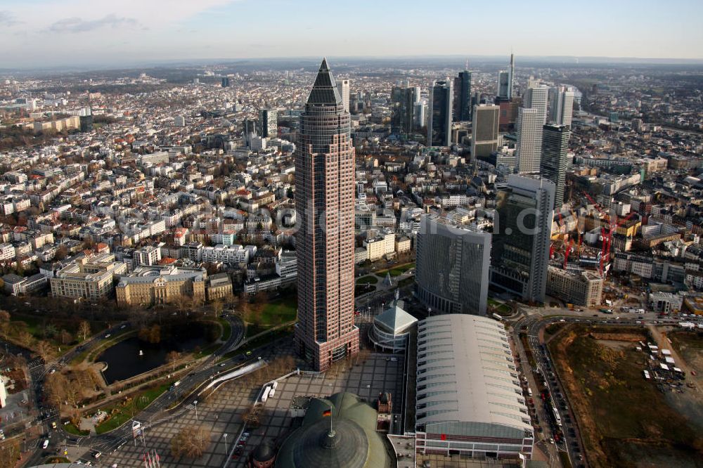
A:
[[[556,210],[560,210],[564,203],[569,136],[571,136],[571,130],[568,125],[546,124],[543,127],[540,173],[555,185],[554,209]]]

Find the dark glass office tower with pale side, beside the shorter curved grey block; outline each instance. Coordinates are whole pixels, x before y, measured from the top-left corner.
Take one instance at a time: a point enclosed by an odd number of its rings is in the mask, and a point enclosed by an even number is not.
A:
[[[496,200],[491,285],[527,301],[544,301],[554,190],[546,178],[510,174]]]

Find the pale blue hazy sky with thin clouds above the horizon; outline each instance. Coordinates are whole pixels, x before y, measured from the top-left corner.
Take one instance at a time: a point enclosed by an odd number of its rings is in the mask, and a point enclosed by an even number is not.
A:
[[[299,56],[703,58],[703,0],[0,0],[0,68]]]

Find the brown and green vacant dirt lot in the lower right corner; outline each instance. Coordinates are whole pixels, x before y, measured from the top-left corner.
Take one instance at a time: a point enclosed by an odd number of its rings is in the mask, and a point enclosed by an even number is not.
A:
[[[643,378],[634,342],[650,340],[641,328],[576,325],[550,342],[591,467],[703,467],[703,433]]]

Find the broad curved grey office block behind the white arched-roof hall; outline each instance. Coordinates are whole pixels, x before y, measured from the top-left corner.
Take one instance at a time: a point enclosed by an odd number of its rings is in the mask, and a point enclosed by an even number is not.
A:
[[[415,281],[432,313],[486,315],[490,263],[490,233],[423,216]]]

